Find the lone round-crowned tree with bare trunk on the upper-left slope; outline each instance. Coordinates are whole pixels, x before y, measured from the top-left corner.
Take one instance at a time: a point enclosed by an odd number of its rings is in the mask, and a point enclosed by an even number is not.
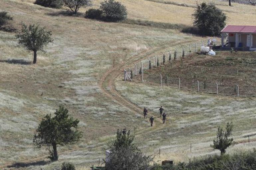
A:
[[[52,31],[47,31],[45,27],[40,27],[39,25],[29,25],[22,24],[21,31],[16,35],[18,44],[27,50],[34,52],[33,64],[37,62],[37,51],[44,51],[44,47],[47,46],[49,42],[53,42]]]

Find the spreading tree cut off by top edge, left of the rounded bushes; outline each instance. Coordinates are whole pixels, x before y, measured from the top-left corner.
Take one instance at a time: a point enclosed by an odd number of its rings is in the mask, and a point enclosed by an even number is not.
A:
[[[64,7],[69,8],[69,10],[75,15],[79,8],[92,5],[92,0],[63,0]]]

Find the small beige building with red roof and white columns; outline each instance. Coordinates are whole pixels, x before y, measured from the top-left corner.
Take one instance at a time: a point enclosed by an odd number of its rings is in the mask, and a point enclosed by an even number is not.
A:
[[[221,30],[222,48],[236,48],[246,51],[256,50],[256,26],[227,25]],[[224,37],[226,37],[224,41]],[[228,43],[226,45],[226,43]]]

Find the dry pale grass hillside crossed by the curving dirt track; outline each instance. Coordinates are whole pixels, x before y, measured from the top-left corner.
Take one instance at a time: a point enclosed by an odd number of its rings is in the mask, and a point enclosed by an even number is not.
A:
[[[94,8],[99,2],[94,1]],[[129,19],[192,23],[192,7],[146,0],[121,2],[127,6]],[[192,0],[186,3],[195,5]],[[255,23],[255,7],[218,3],[229,16],[228,24]],[[88,169],[104,157],[106,142],[123,127],[138,128],[137,142],[148,154],[161,147],[164,155],[160,158],[175,161],[215,153],[209,144],[216,127],[226,120],[237,125],[235,139],[240,142],[230,151],[255,146],[254,98],[200,95],[170,87],[158,91],[154,85],[121,80],[122,70],[133,62],[205,37],[175,29],[58,15],[64,9],[44,8],[32,0],[2,0],[0,10],[13,16],[16,28],[22,22],[40,24],[52,30],[54,38],[47,53],[39,53],[38,63],[32,65],[32,53],[17,47],[15,34],[0,31],[0,169],[50,170],[63,161]],[[248,17],[251,20],[244,19]],[[47,161],[48,151],[36,148],[32,139],[42,117],[53,114],[61,103],[80,120],[83,138],[76,145],[59,147],[59,161],[51,163]],[[157,119],[154,128],[150,128],[140,109],[147,106],[150,114],[157,116],[156,108],[162,103],[173,117],[164,126]],[[250,146],[243,143],[246,135],[252,136]],[[189,143],[194,144],[191,153]]]

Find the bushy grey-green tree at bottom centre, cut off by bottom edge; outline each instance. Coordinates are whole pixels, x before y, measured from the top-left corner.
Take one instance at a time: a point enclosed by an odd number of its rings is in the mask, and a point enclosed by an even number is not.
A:
[[[110,155],[105,161],[106,170],[148,170],[151,156],[144,155],[134,143],[130,131],[117,130],[116,139],[108,143]]]

